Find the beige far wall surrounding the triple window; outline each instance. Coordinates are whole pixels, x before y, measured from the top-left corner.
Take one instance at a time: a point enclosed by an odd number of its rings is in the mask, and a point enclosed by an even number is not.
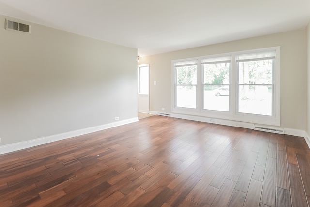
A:
[[[141,57],[140,64],[150,64],[150,111],[171,112],[172,60],[281,46],[281,127],[305,130],[305,41],[306,31],[297,30]]]

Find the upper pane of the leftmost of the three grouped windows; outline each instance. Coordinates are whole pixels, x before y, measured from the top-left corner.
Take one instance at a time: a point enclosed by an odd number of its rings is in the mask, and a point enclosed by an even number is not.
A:
[[[177,67],[178,85],[196,85],[197,84],[197,65]]]

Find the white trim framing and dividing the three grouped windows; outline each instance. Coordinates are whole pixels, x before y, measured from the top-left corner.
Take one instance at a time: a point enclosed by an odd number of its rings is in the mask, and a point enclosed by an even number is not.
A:
[[[247,54],[253,52],[263,52],[268,50],[275,50],[276,51],[276,59],[274,61],[274,71],[273,71],[273,104],[272,107],[272,116],[265,116],[265,115],[257,115],[257,114],[246,114],[246,113],[238,113],[238,73],[237,73],[237,62],[235,61],[236,56],[240,54]],[[217,55],[208,55],[202,57],[195,57],[195,58],[188,58],[188,59],[181,59],[181,60],[173,60],[172,61],[172,113],[175,114],[185,114],[185,115],[192,115],[192,116],[199,116],[199,117],[210,117],[210,118],[217,118],[217,119],[224,119],[224,120],[233,120],[233,121],[240,121],[246,123],[253,123],[253,124],[263,124],[263,125],[273,125],[273,126],[280,126],[280,95],[281,95],[281,57],[280,57],[280,46],[278,47],[271,47],[271,48],[260,48],[260,49],[253,49],[253,50],[245,50],[245,51],[237,51],[231,53],[222,53]],[[208,58],[216,58],[221,56],[228,56],[232,57],[231,62],[231,69],[230,69],[230,91],[229,91],[229,111],[212,111],[212,110],[204,110],[203,109],[203,90],[202,90],[202,69],[201,69],[201,61],[203,59]],[[196,109],[189,109],[189,108],[182,108],[176,107],[176,94],[175,94],[175,87],[176,87],[176,74],[174,69],[174,64],[176,62],[183,62],[183,61],[190,61],[190,60],[198,60],[197,65],[197,97]]]

